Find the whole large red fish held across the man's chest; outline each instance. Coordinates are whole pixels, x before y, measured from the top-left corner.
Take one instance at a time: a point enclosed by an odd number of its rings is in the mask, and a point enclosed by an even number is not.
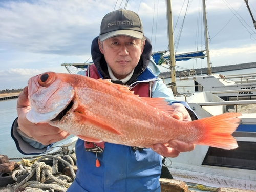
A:
[[[191,122],[173,118],[162,98],[142,98],[108,80],[46,72],[30,78],[29,121],[48,122],[90,142],[152,147],[172,139],[224,149],[237,148],[231,134],[239,113]]]

